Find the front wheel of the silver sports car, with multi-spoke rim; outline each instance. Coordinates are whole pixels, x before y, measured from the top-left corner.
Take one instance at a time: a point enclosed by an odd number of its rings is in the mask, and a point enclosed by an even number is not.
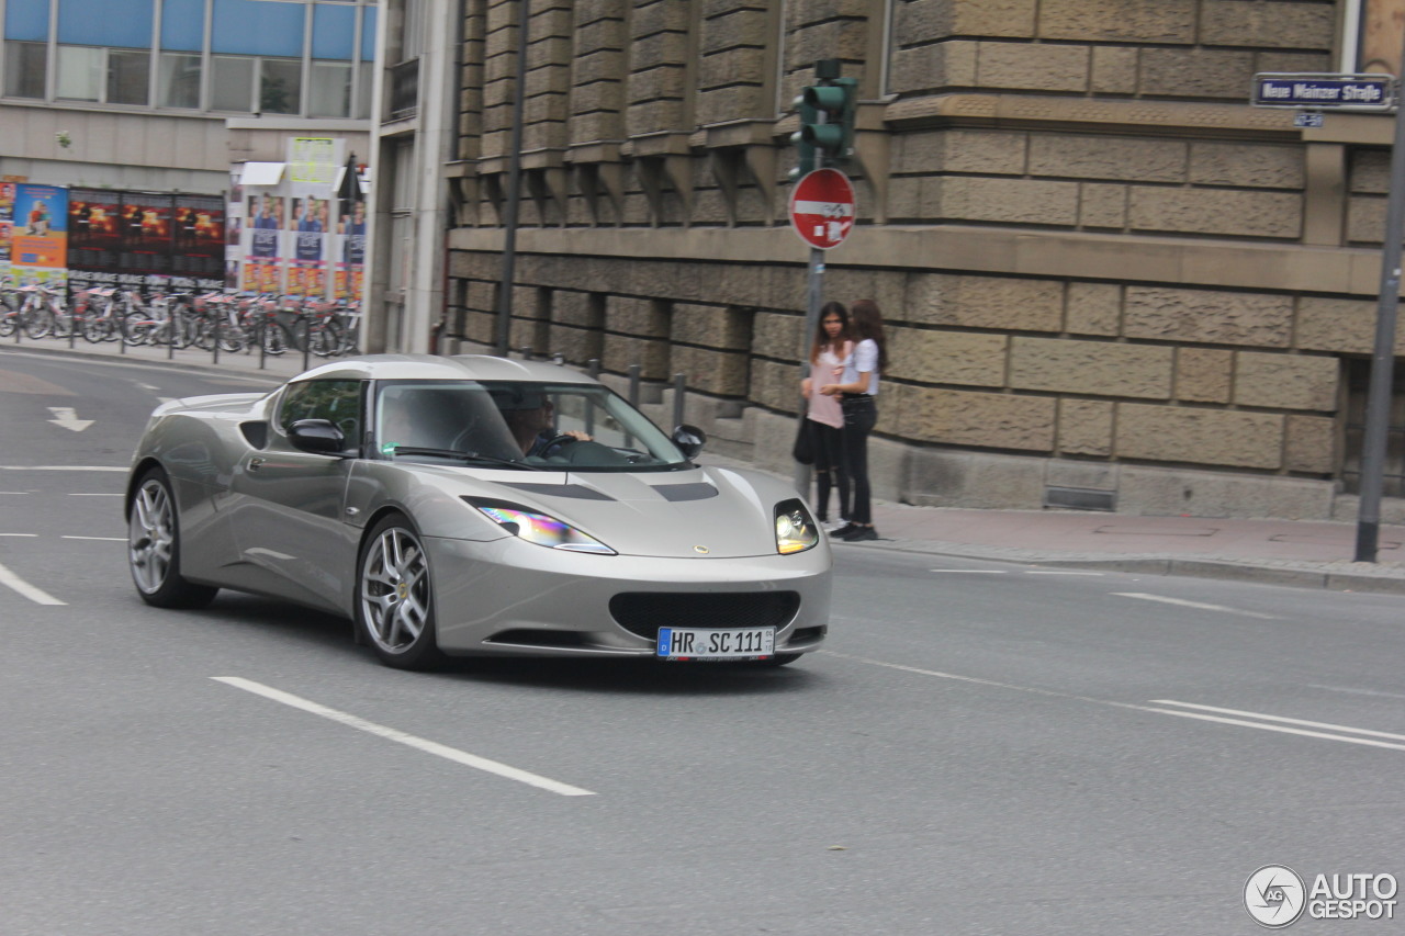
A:
[[[409,519],[385,516],[357,562],[355,627],[386,666],[433,669],[444,662],[434,638],[429,557]]]

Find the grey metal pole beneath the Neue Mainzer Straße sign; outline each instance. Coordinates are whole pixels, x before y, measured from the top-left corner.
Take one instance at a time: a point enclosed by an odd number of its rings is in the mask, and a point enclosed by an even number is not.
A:
[[[1405,62],[1405,49],[1401,51]],[[1405,236],[1405,119],[1395,104],[1395,142],[1391,148],[1391,194],[1385,207],[1381,245],[1381,294],[1375,306],[1375,347],[1371,382],[1366,392],[1366,437],[1361,441],[1361,492],[1356,520],[1356,561],[1375,562],[1381,534],[1381,490],[1385,441],[1391,426],[1391,377],[1395,370],[1395,315],[1401,291],[1401,239]]]

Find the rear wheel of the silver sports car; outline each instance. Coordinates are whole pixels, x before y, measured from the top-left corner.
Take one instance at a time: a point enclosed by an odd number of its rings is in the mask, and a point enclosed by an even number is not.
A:
[[[148,604],[205,607],[219,590],[181,578],[176,498],[170,479],[160,468],[148,471],[136,485],[128,509],[126,555],[136,593]]]

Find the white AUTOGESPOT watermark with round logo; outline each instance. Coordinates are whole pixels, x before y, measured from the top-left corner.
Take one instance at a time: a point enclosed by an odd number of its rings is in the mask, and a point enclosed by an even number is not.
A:
[[[1395,919],[1394,874],[1316,874],[1308,887],[1291,867],[1264,864],[1243,885],[1243,906],[1269,929],[1309,919]]]

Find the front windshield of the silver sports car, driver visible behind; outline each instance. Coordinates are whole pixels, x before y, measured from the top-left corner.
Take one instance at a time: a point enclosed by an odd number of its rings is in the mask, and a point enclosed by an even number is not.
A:
[[[597,384],[382,381],[375,450],[396,461],[538,471],[688,467],[658,426]]]

